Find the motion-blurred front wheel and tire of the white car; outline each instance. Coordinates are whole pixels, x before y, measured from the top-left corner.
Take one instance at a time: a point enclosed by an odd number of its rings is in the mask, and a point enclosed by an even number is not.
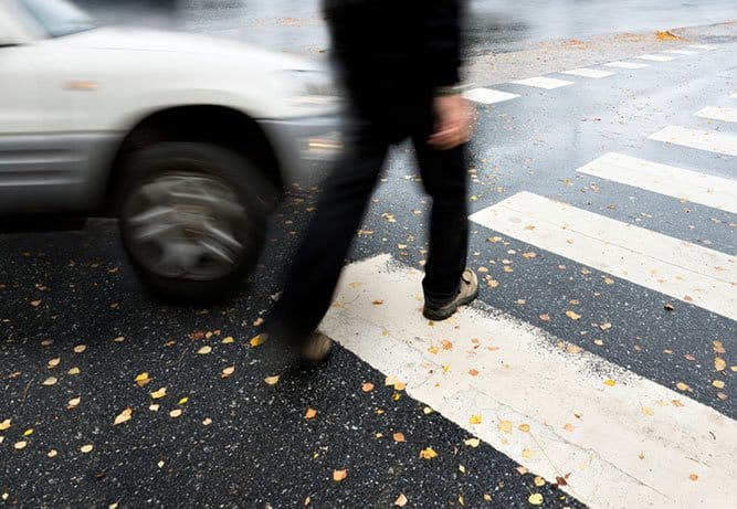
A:
[[[124,163],[123,246],[151,293],[208,301],[231,295],[264,244],[273,190],[223,147],[161,142]]]

